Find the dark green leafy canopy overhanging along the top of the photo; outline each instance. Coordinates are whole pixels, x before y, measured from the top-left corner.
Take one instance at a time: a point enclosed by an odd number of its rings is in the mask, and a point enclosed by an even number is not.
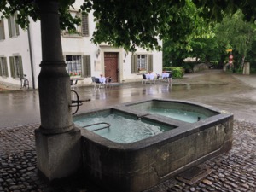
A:
[[[17,13],[17,22],[22,28],[29,25],[28,16],[36,21],[40,19],[37,2],[57,0],[1,0],[0,12],[3,17]],[[59,0],[61,29],[72,30],[81,21],[73,18],[69,9],[73,9],[75,0]],[[94,11],[96,31],[92,41],[95,44],[107,42],[116,47],[134,51],[136,46],[145,49],[160,49],[159,39],[167,35],[173,39],[187,38],[189,23],[183,20],[178,11],[183,9],[185,0],[84,0],[79,9],[82,14]],[[201,17],[221,20],[221,12],[235,13],[241,9],[246,19],[254,19],[256,5],[254,0],[190,0],[201,8]],[[183,21],[183,28],[178,25]]]

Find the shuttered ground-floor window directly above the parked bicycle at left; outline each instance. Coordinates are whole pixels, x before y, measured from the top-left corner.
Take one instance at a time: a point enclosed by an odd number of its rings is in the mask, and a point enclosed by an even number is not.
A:
[[[21,56],[9,57],[9,64],[12,78],[20,78],[23,76],[23,66]]]

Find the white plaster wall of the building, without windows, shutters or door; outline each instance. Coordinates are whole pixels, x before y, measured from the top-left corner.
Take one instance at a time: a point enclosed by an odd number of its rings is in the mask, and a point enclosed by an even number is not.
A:
[[[79,7],[81,1],[76,1],[74,7]],[[33,22],[30,25],[30,38],[32,42],[32,64],[34,73],[35,87],[38,88],[38,74],[40,73],[40,63],[42,61],[42,49],[41,49],[41,32],[40,21]],[[0,41],[0,55],[8,58],[9,78],[0,77],[0,82],[6,82],[11,84],[20,84],[20,79],[13,79],[10,77],[9,68],[9,56],[22,55],[22,63],[24,73],[29,79],[32,87],[32,68],[30,49],[28,44],[28,33],[20,29],[20,36],[16,38],[9,38],[8,22],[4,20],[5,37],[6,39]],[[67,38],[61,37],[63,55],[90,55],[91,63],[91,76],[99,76],[104,73],[104,52],[118,52],[119,53],[119,80],[120,82],[131,82],[142,79],[141,74],[131,73],[131,53],[125,52],[121,48],[113,48],[106,44],[95,45],[90,42],[93,31],[96,24],[93,22],[93,13],[89,15],[89,37],[80,38]],[[160,42],[161,43],[161,42]],[[97,57],[97,53],[100,51],[100,55]],[[148,52],[144,49],[137,49],[137,55],[146,55]],[[153,54],[153,73],[162,73],[162,52],[151,51],[149,54]],[[96,69],[96,63],[100,64],[100,70]],[[79,84],[90,84],[91,78],[85,78],[83,81],[79,81]]]

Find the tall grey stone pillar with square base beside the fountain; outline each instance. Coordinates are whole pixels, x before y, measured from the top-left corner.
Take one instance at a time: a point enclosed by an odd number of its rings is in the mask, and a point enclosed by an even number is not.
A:
[[[67,177],[81,165],[80,131],[73,126],[70,78],[63,61],[59,3],[38,0],[42,58],[38,76],[41,126],[35,131],[38,172],[49,181]]]

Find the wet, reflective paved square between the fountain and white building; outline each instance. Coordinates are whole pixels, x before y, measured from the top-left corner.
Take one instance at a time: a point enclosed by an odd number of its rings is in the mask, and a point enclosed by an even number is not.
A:
[[[84,102],[79,113],[85,110],[103,108],[123,102],[150,98],[180,99],[201,102],[230,111],[235,119],[256,122],[256,77],[232,75],[219,70],[191,73],[183,79],[173,79],[172,86],[166,82],[141,84],[141,82],[113,85],[94,89],[76,87]],[[248,84],[247,84],[248,83]],[[251,85],[250,85],[251,84]],[[40,121],[37,90],[0,92],[0,127],[26,125]]]

